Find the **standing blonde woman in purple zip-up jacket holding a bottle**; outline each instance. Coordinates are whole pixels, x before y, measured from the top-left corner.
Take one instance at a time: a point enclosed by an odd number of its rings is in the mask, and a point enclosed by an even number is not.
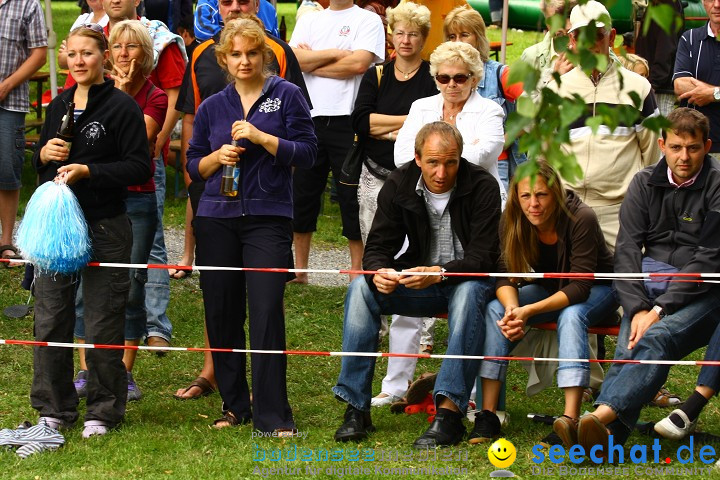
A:
[[[254,20],[228,22],[215,52],[234,82],[200,105],[188,149],[190,177],[207,181],[194,220],[196,262],[284,268],[291,264],[291,168],[311,167],[317,152],[310,108],[298,87],[268,74],[271,50]],[[224,165],[240,169],[236,196],[220,193]],[[284,273],[201,272],[210,346],[245,348],[247,290],[250,348],[284,350],[285,280]],[[216,428],[252,420],[262,432],[296,431],[284,355],[252,356],[252,406],[245,355],[213,353],[213,362],[223,399]]]

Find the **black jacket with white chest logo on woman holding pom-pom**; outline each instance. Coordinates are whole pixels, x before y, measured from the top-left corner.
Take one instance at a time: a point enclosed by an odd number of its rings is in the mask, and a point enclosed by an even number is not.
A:
[[[61,162],[40,161],[40,150],[57,135],[67,102],[77,85],[58,95],[47,108],[33,165],[40,183],[51,181]],[[152,175],[150,151],[142,110],[129,95],[117,90],[112,80],[93,85],[85,111],[75,122],[70,158],[90,169],[90,178],[71,186],[88,220],[125,212],[127,186],[145,183]]]

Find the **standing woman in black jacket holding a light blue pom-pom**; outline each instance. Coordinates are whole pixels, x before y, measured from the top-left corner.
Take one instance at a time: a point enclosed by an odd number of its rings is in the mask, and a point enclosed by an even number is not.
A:
[[[102,28],[82,25],[68,35],[68,67],[77,85],[55,98],[47,109],[33,164],[41,182],[66,182],[77,197],[88,224],[92,260],[129,263],[130,222],[125,213],[128,185],[150,178],[150,152],[145,122],[137,103],[103,77],[109,55]],[[74,138],[56,136],[75,105]],[[48,214],[48,222],[61,218]],[[47,248],[58,248],[52,236]],[[82,276],[85,335],[88,343],[122,345],[125,305],[130,280],[119,268],[88,267],[79,274],[40,271],[34,282],[35,338],[72,342],[75,289]],[[92,349],[87,354],[87,413],[83,437],[103,435],[125,415],[127,375],[121,350]],[[73,385],[73,354],[67,348],[36,347],[30,400],[40,422],[52,428],[71,427],[78,419]]]

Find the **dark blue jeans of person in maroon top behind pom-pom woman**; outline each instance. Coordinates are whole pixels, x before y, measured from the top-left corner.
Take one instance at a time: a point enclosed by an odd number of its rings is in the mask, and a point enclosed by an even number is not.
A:
[[[128,192],[125,200],[127,216],[132,225],[132,252],[130,263],[147,263],[150,246],[155,236],[157,207],[153,193]],[[146,268],[131,268],[130,295],[125,308],[125,340],[137,340],[145,335],[145,282]],[[82,287],[75,297],[75,337],[85,338],[84,305]]]

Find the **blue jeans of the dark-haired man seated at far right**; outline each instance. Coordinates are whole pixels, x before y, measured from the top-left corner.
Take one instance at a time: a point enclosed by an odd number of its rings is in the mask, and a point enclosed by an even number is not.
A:
[[[650,327],[632,350],[627,349],[632,319],[623,316],[615,360],[679,360],[700,347],[720,324],[720,291],[714,287],[697,300]],[[607,405],[618,419],[608,425],[616,443],[624,443],[640,409],[667,379],[669,365],[614,363],[595,405]]]

